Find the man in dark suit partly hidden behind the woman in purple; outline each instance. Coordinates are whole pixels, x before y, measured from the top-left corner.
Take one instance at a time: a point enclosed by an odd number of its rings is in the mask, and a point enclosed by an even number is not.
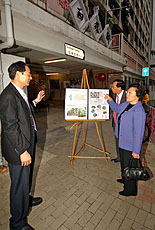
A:
[[[121,79],[115,79],[112,83],[112,92],[114,94],[114,101],[117,104],[121,104],[126,101],[126,92],[125,92],[125,83]],[[115,124],[117,120],[117,113],[113,114],[112,118],[112,126],[115,130]],[[115,163],[120,162],[120,154],[119,154],[119,148],[118,148],[118,139],[115,138],[116,140],[116,152],[117,152],[117,157],[112,158],[111,161],[114,161]]]

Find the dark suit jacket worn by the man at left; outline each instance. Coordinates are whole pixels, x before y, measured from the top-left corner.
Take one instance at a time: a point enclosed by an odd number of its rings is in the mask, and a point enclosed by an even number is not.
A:
[[[19,165],[20,154],[28,151],[33,157],[35,147],[34,111],[28,108],[18,90],[10,83],[0,95],[2,123],[2,155],[11,164]]]

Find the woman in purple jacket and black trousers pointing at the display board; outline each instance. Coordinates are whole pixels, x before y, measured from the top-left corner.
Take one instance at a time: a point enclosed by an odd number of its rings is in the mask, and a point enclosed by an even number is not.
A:
[[[111,97],[105,95],[108,103],[114,112],[118,113],[115,136],[118,138],[118,146],[121,161],[121,172],[129,165],[130,159],[139,159],[144,128],[145,111],[142,106],[142,99],[145,95],[145,88],[137,83],[129,86],[126,102],[116,104]],[[133,160],[132,166],[137,167],[138,161]],[[117,179],[119,183],[124,184],[124,190],[119,192],[122,196],[136,196],[137,182],[135,180]]]

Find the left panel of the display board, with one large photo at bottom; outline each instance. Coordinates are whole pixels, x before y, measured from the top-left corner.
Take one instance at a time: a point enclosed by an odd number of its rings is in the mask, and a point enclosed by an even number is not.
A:
[[[87,89],[66,88],[65,119],[87,119]]]

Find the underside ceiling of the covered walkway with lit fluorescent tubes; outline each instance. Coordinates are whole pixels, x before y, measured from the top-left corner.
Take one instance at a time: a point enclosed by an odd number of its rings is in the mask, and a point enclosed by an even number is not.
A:
[[[113,71],[111,69],[108,70],[107,68],[99,69],[98,66],[87,64],[84,60],[80,60],[77,58],[69,57],[66,55],[56,56],[54,54],[48,54],[22,46],[14,46],[10,49],[3,50],[3,52],[6,54],[25,57],[26,62],[31,67],[31,71],[35,72],[70,74],[75,72],[81,72],[83,69],[96,70],[102,72]],[[66,61],[49,64],[44,63],[47,60],[55,60],[61,58],[66,58]]]

